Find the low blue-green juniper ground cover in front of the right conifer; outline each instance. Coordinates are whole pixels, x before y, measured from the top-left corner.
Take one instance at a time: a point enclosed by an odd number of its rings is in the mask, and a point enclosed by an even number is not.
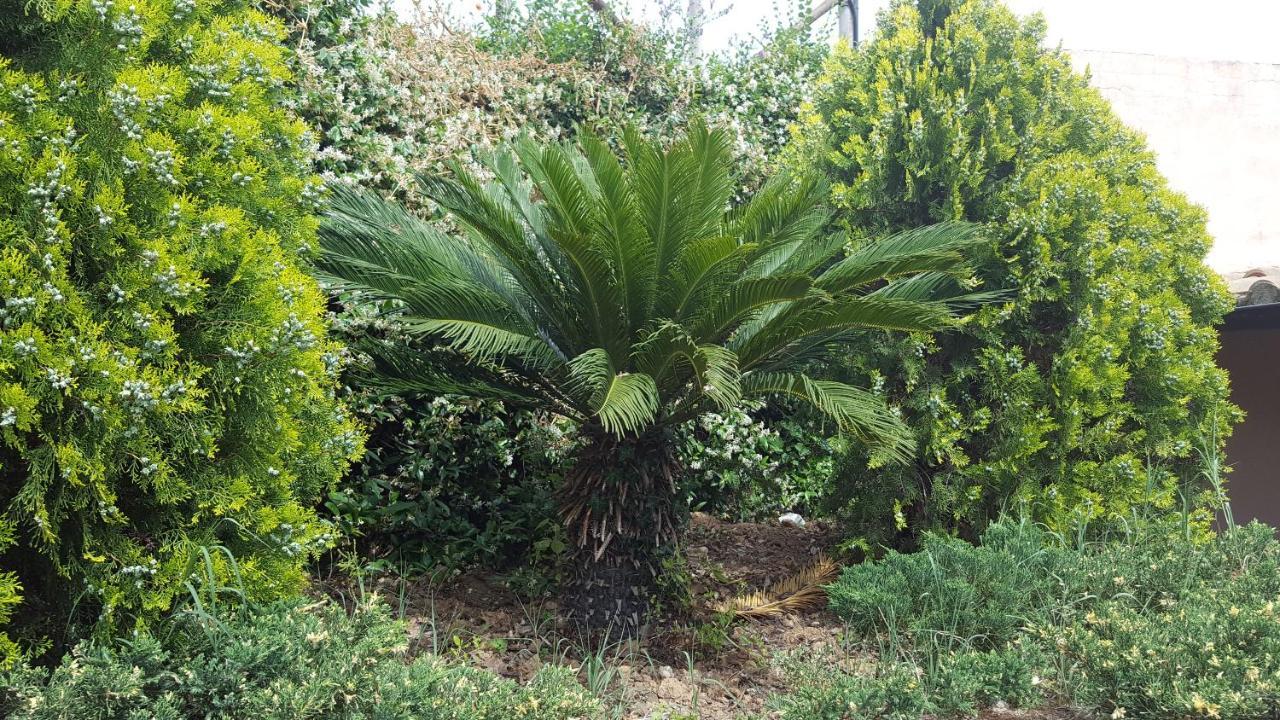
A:
[[[1117,717],[1272,711],[1280,702],[1272,528],[1254,523],[1204,538],[1138,519],[1105,542],[1080,544],[1084,536],[1004,518],[979,546],[925,534],[919,553],[849,568],[831,587],[832,609],[892,662],[882,676],[810,676],[782,701],[788,716],[845,717],[849,702],[890,691],[910,691],[918,706],[904,707],[913,717],[996,700],[1027,706],[1042,693]],[[919,683],[904,691],[904,678]]]

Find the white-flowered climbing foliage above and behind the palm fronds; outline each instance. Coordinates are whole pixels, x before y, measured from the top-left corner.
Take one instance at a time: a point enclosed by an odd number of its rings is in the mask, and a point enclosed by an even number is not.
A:
[[[415,174],[518,133],[635,124],[669,137],[696,115],[732,128],[748,188],[759,187],[826,54],[822,40],[778,31],[760,38],[767,59],[753,47],[704,63],[689,50],[692,18],[611,22],[585,0],[495,3],[475,27],[429,8],[416,20],[366,13],[358,0],[270,5],[297,47],[319,169],[415,206]]]

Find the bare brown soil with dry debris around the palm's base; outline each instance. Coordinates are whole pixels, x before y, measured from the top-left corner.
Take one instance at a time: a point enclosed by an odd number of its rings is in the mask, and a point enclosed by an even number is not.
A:
[[[417,652],[522,683],[549,662],[582,665],[584,683],[625,707],[622,717],[730,719],[763,714],[768,697],[785,692],[772,662],[777,652],[840,652],[844,625],[827,610],[728,624],[714,605],[804,570],[837,538],[820,523],[723,523],[695,512],[686,537],[692,606],[664,612],[634,643],[588,639],[558,619],[553,597],[521,597],[490,570],[449,579],[383,575],[371,588],[403,612]],[[339,600],[360,592],[339,577],[317,588]]]

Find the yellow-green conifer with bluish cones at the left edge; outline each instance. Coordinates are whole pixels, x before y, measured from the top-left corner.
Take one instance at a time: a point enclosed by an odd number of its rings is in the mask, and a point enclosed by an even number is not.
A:
[[[201,548],[296,592],[358,451],[301,269],[321,188],[283,31],[220,0],[0,14],[0,566],[24,633],[146,623]],[[0,580],[0,606],[10,584]],[[73,614],[73,615],[72,615]]]

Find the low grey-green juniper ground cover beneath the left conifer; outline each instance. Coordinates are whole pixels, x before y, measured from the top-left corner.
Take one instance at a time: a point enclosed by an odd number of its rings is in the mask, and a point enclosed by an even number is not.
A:
[[[265,606],[215,629],[183,625],[82,644],[46,673],[0,675],[0,715],[13,720],[407,719],[570,720],[598,702],[572,671],[547,666],[529,685],[492,673],[412,657],[406,628],[383,605]],[[209,630],[209,632],[206,632]]]

